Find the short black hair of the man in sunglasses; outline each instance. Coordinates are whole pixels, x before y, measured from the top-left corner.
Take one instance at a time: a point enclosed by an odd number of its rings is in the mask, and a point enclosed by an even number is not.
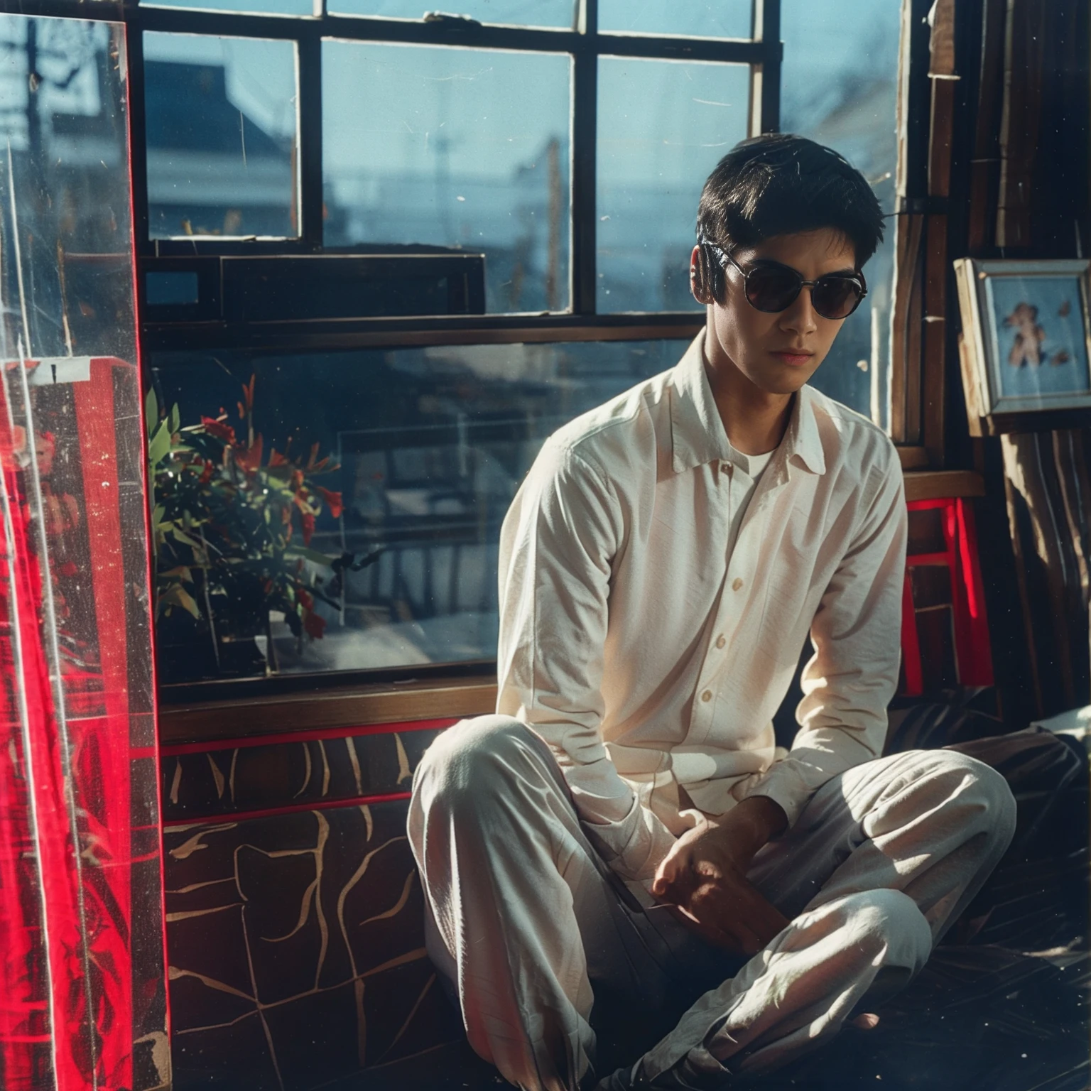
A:
[[[791,133],[736,144],[708,176],[697,206],[697,241],[729,252],[824,227],[852,242],[859,269],[883,241],[883,209],[864,176],[843,156]],[[717,298],[719,280],[714,275],[710,285]]]

